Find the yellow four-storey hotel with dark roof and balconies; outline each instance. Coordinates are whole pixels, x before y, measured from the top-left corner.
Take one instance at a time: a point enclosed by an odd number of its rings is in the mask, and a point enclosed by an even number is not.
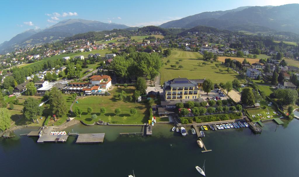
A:
[[[164,82],[165,100],[198,98],[198,83],[187,78],[175,78]]]

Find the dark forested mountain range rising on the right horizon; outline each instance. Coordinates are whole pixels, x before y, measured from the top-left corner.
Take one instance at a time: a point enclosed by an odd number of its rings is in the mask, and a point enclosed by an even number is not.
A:
[[[169,21],[160,27],[193,28],[199,25],[248,32],[287,31],[299,34],[299,4],[245,6],[225,11],[202,12]]]

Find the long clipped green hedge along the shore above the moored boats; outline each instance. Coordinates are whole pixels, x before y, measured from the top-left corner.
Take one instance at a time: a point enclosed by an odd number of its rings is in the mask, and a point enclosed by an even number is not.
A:
[[[181,117],[182,124],[188,124],[192,122],[202,123],[202,122],[214,122],[220,120],[231,120],[231,119],[239,119],[241,117],[241,112],[235,112],[230,114],[216,114],[216,115],[202,115],[196,117]]]

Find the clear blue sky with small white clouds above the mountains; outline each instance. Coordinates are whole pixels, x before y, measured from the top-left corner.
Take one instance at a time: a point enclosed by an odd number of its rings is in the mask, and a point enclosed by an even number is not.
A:
[[[299,3],[299,0],[1,1],[0,43],[28,29],[45,29],[69,18],[127,26],[158,26],[201,12],[292,3]]]

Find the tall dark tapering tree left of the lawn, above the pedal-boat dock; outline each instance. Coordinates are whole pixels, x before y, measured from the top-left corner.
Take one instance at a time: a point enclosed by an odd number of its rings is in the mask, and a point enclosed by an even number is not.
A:
[[[66,101],[63,98],[61,91],[58,90],[57,87],[53,87],[49,92],[49,104],[50,110],[52,110],[52,113],[57,116],[65,115],[68,110],[66,108]]]

